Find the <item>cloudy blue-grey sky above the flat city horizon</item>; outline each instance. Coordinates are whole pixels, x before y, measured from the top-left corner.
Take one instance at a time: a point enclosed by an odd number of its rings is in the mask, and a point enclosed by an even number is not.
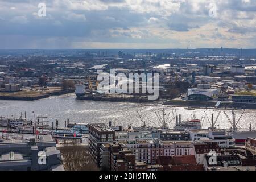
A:
[[[0,0],[0,49],[256,48],[255,15],[256,0]]]

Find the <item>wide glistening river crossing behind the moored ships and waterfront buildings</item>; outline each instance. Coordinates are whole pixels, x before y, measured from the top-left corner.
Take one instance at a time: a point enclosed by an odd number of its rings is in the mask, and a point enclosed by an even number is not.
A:
[[[209,119],[211,114],[214,113],[214,118],[217,117],[219,110],[185,110],[180,107],[163,106],[160,103],[156,104],[135,104],[135,103],[122,103],[122,102],[96,102],[96,101],[79,101],[76,100],[75,94],[67,94],[64,96],[52,96],[37,101],[9,101],[0,100],[0,115],[6,117],[19,117],[20,113],[26,111],[28,119],[34,120],[34,113],[36,116],[43,115],[48,117],[49,125],[56,119],[59,120],[59,125],[65,125],[65,119],[69,118],[69,122],[84,122],[84,123],[106,123],[113,122],[113,125],[128,126],[141,126],[142,121],[139,119],[138,113],[141,114],[143,121],[146,121],[150,126],[161,126],[156,111],[161,113],[162,109],[166,110],[166,114],[170,113],[167,122],[168,126],[173,127],[175,121],[171,119],[174,114],[181,114],[182,120],[187,120],[195,113],[196,118],[201,119],[204,117],[204,111],[207,113]],[[176,112],[175,112],[176,110]],[[138,111],[138,113],[137,113]],[[232,118],[232,111],[227,110],[226,113],[229,118]],[[240,117],[242,111],[236,111],[236,119]],[[166,115],[166,118],[167,118]],[[256,129],[256,110],[246,110],[243,114],[238,127],[248,128],[251,123],[252,127]],[[218,127],[222,129],[229,129],[230,124],[226,119],[225,114],[222,112],[217,120]],[[205,118],[203,127],[207,128],[210,124],[208,119]]]

